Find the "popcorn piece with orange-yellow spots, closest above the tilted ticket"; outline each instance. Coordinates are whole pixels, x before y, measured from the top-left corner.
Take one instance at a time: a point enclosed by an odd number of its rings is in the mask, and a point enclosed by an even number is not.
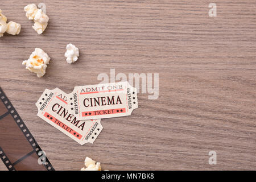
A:
[[[46,73],[47,64],[49,64],[50,57],[40,48],[35,48],[28,60],[22,62],[26,65],[26,69],[30,72],[36,73],[38,77],[44,76]]]

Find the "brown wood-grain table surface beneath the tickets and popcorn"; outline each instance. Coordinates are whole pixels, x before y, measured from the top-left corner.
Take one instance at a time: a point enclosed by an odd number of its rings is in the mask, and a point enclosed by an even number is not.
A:
[[[255,0],[43,2],[43,35],[25,16],[31,1],[1,3],[22,31],[0,38],[0,86],[55,169],[79,170],[85,156],[109,170],[256,169]],[[208,15],[211,2],[217,17]],[[81,54],[72,65],[68,43]],[[51,57],[42,78],[22,65],[36,47]],[[139,93],[131,116],[102,119],[100,136],[84,146],[36,116],[44,89],[70,93],[112,68],[159,73],[159,98]]]

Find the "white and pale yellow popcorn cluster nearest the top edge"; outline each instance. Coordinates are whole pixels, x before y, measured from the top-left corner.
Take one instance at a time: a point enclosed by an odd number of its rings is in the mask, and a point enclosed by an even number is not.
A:
[[[49,17],[43,12],[43,10],[38,9],[35,4],[30,4],[24,7],[26,11],[26,16],[29,20],[34,20],[34,30],[38,34],[42,34],[48,25]]]

